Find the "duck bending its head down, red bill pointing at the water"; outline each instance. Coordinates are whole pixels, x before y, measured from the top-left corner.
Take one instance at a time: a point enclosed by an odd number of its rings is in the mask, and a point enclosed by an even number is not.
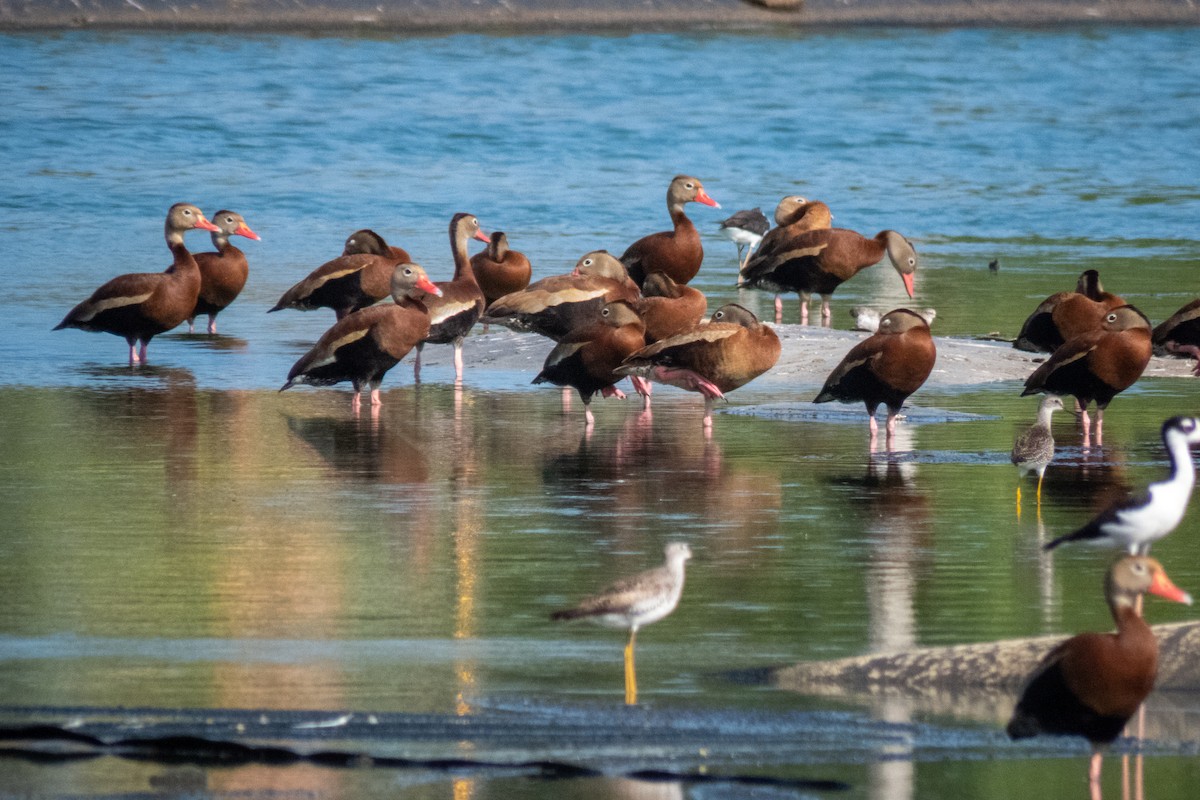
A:
[[[768,231],[768,236],[769,236]],[[868,239],[845,228],[822,228],[794,236],[784,236],[767,249],[767,242],[746,264],[745,283],[776,294],[800,295],[800,324],[809,323],[809,299],[821,295],[821,321],[830,321],[829,299],[834,290],[884,254],[900,273],[905,291],[912,297],[917,251],[894,230],[881,230]]]

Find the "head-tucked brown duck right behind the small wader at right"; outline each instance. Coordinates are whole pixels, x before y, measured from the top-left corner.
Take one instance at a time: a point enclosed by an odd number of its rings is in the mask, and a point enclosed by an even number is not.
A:
[[[1151,354],[1150,321],[1133,306],[1121,306],[1098,329],[1063,342],[1025,380],[1021,397],[1036,392],[1074,396],[1085,445],[1091,433],[1087,405],[1096,401],[1096,444],[1102,445],[1104,409],[1141,377]]]

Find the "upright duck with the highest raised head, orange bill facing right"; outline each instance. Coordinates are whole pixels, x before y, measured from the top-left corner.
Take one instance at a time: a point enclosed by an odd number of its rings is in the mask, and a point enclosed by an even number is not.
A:
[[[630,245],[620,257],[620,263],[629,270],[629,277],[637,285],[650,272],[666,272],[676,283],[688,283],[700,272],[704,260],[704,247],[700,242],[700,231],[691,223],[683,206],[688,203],[702,203],[714,209],[721,207],[708,197],[703,184],[690,175],[676,175],[667,187],[667,211],[674,228],[649,236],[642,236]]]

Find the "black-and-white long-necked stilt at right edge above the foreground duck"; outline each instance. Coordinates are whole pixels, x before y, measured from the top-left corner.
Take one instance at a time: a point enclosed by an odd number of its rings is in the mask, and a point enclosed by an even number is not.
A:
[[[1200,419],[1172,416],[1163,423],[1163,444],[1171,462],[1166,480],[1151,483],[1141,494],[1120,500],[1076,531],[1045,546],[1054,549],[1064,542],[1087,541],[1123,547],[1132,555],[1145,555],[1150,546],[1175,530],[1183,519],[1195,486],[1195,464],[1190,447],[1200,444]]]

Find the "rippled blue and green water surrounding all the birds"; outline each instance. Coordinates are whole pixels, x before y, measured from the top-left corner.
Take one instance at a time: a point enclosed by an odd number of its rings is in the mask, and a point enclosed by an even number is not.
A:
[[[1018,518],[1007,452],[1034,409],[1019,381],[918,392],[900,452],[875,458],[852,409],[754,413],[810,399],[816,374],[739,390],[730,410],[750,413],[719,414],[712,438],[696,398],[670,389],[653,420],[632,399],[598,401],[586,438],[578,403],[564,415],[532,373],[481,366],[505,345],[476,331],[464,386],[430,348],[424,383],[406,361],[379,417],[356,419],[344,390],[275,391],[330,317],[264,312],[362,227],[448,277],[456,211],[505,230],[535,277],[563,272],[665,228],[665,187],[686,172],[724,206],[689,206],[710,307],[769,312],[768,295],[734,288],[716,223],[800,193],[828,201],[839,225],[916,242],[913,302],[937,309],[938,335],[1012,337],[1088,267],[1157,323],[1200,293],[1194,31],[65,34],[4,37],[0,68],[0,706],[482,721],[533,709],[594,714],[608,730],[622,634],[548,614],[680,539],[696,553],[684,600],[638,639],[653,724],[678,744],[696,718],[760,736],[766,715],[792,742],[702,764],[841,781],[852,796],[1082,794],[1086,748],[1009,745],[1004,698],[948,712],[796,697],[727,673],[1108,626],[1109,554],[1050,560],[1038,542],[1163,474],[1158,427],[1198,410],[1193,380],[1144,379],[1118,397],[1099,451],[1082,451],[1060,415],[1043,513],[1027,505]],[[158,337],[151,365],[132,371],[115,337],[52,333],[104,279],[167,265],[161,225],[176,200],[235,209],[263,235],[244,245],[251,279],[222,333]],[[188,245],[208,248],[199,234]],[[902,300],[881,265],[839,289],[834,324],[850,326],[851,306]],[[1193,513],[1156,546],[1193,593],[1198,533]],[[1154,621],[1193,614],[1148,609]],[[1200,778],[1178,757],[1200,728],[1182,720],[1152,728],[1154,798],[1190,796]],[[541,752],[529,729],[514,735]],[[641,741],[625,754],[612,771],[697,758]],[[14,793],[161,786],[155,769],[108,759],[0,772]],[[214,793],[322,796],[749,790],[320,766],[200,780]]]

